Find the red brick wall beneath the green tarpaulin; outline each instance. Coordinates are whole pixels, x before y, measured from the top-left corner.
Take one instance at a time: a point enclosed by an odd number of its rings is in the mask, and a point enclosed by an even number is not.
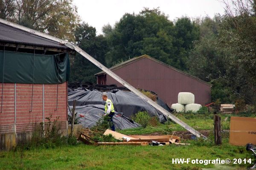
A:
[[[16,84],[16,132],[34,130],[36,122],[47,122],[46,117],[52,114],[52,121],[59,116],[61,129],[66,129],[67,121],[67,82],[58,85],[44,85],[44,118],[43,118],[43,85],[34,84],[32,99],[32,84]],[[0,134],[15,132],[15,84],[0,83]],[[32,111],[31,111],[32,101]]]

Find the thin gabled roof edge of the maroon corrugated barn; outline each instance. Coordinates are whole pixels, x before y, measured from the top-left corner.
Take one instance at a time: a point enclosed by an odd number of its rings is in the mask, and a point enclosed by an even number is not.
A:
[[[118,64],[118,65],[115,65],[115,66],[113,66],[113,67],[111,67],[111,68],[109,68],[109,69],[110,69],[111,71],[115,71],[115,70],[117,70],[117,69],[119,69],[119,68],[124,67],[125,65],[131,64],[131,63],[136,62],[137,60],[143,59],[143,58],[151,59],[151,60],[153,60],[153,61],[155,61],[155,62],[160,63],[161,65],[164,65],[164,66],[166,66],[166,67],[168,67],[168,68],[170,68],[170,69],[172,69],[172,70],[175,70],[175,71],[179,72],[180,74],[184,74],[184,75],[186,75],[186,76],[188,76],[188,77],[190,77],[190,78],[192,78],[192,79],[197,79],[198,81],[200,81],[200,82],[202,82],[202,83],[204,83],[204,84],[206,84],[206,85],[212,86],[210,83],[205,82],[204,80],[201,80],[201,79],[199,79],[198,77],[192,76],[191,74],[188,74],[188,73],[186,73],[186,72],[184,72],[184,71],[181,71],[181,70],[179,70],[179,69],[177,69],[177,68],[175,68],[175,67],[172,67],[171,65],[168,65],[168,64],[166,64],[166,63],[164,63],[164,62],[161,62],[161,61],[159,61],[159,60],[157,60],[157,59],[154,59],[154,58],[152,58],[152,57],[150,57],[150,56],[148,56],[148,55],[146,55],[146,54],[144,54],[144,55],[142,55],[142,56],[140,56],[140,57],[134,57],[134,58],[132,58],[132,59],[129,59],[129,60],[127,60],[127,61],[125,61],[125,62],[122,62],[122,63],[120,63],[120,64]],[[97,74],[94,74],[94,75],[95,75],[95,76],[98,76],[98,75],[101,75],[101,74],[106,74],[106,73],[105,73],[105,71],[101,71],[101,72],[99,72],[99,73],[97,73]]]

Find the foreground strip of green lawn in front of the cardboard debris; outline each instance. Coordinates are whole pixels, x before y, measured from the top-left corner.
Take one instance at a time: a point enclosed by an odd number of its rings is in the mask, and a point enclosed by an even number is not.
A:
[[[202,142],[204,143],[204,142]],[[233,159],[253,158],[245,147],[227,143],[222,146],[198,144],[186,146],[65,146],[54,149],[34,149],[0,152],[1,170],[150,170],[201,169],[213,164],[172,164],[173,158]],[[230,164],[232,166],[232,164]],[[238,166],[238,165],[237,165]],[[252,164],[242,164],[242,167]]]

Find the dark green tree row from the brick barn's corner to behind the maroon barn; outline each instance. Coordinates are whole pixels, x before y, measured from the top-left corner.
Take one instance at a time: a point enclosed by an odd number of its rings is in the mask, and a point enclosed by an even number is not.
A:
[[[188,71],[189,51],[199,40],[199,26],[188,17],[172,22],[159,8],[144,8],[139,14],[124,14],[111,27],[103,26],[103,35],[86,23],[76,29],[76,42],[107,67],[148,54],[162,62]],[[90,36],[90,40],[83,36]],[[79,55],[78,55],[79,56]],[[85,69],[85,68],[90,68]],[[72,68],[73,81],[96,81],[100,70],[84,58],[76,57]]]

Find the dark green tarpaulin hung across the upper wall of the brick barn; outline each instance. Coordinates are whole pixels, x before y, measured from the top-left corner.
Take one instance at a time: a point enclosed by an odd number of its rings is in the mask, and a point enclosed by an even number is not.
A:
[[[68,80],[69,72],[68,53],[34,57],[30,53],[0,51],[0,82],[58,84]]]

